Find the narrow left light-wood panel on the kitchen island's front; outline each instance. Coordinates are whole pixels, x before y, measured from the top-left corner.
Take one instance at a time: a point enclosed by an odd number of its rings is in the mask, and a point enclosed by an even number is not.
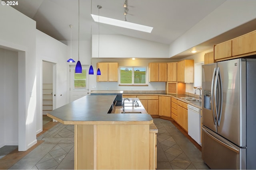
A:
[[[75,169],[97,169],[96,125],[74,125]]]

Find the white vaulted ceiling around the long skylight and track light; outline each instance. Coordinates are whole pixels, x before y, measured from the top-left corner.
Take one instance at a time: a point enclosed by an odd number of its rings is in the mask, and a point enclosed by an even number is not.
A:
[[[7,0],[4,0],[7,1]],[[171,44],[226,0],[127,0],[128,22],[154,27],[151,33],[95,23],[90,14],[124,20],[125,0],[80,0],[80,40],[90,40],[91,34],[126,35]],[[98,10],[97,5],[102,9]],[[78,0],[18,0],[12,6],[36,21],[36,28],[59,41],[78,39]],[[91,32],[92,30],[92,32]],[[208,41],[203,49],[215,43]],[[182,56],[182,55],[181,55]],[[184,56],[184,55],[183,55]]]

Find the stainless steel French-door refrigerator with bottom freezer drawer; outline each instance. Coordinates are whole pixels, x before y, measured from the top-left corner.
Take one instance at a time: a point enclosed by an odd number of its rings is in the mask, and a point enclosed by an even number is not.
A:
[[[256,169],[256,59],[202,66],[202,159],[212,169]]]

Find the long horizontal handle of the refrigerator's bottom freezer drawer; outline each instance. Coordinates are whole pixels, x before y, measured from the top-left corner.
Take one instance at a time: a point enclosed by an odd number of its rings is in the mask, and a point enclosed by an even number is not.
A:
[[[212,138],[214,141],[218,142],[220,145],[223,145],[224,147],[236,152],[237,154],[240,153],[240,150],[238,147],[236,147],[235,145],[233,145],[232,143],[226,141],[225,143],[222,141],[221,137],[219,135],[214,134],[213,132],[211,132],[210,130],[202,127],[202,130],[210,137]]]

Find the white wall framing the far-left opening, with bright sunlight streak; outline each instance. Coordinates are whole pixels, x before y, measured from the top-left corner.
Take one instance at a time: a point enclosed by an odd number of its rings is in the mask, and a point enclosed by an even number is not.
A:
[[[36,143],[36,22],[11,6],[0,6],[0,16],[4,16],[0,45],[19,51],[18,149],[22,151]]]

